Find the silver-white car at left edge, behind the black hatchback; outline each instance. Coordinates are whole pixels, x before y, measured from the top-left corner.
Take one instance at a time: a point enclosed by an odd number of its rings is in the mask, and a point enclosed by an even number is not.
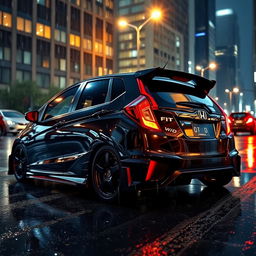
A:
[[[16,110],[0,109],[0,116],[5,125],[5,133],[16,135],[28,124],[25,116]]]

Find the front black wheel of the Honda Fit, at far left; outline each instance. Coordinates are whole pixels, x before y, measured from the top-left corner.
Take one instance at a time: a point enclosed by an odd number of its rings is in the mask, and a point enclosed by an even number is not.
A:
[[[13,151],[13,171],[18,181],[24,181],[26,179],[27,166],[28,159],[26,149],[24,146],[18,145]]]

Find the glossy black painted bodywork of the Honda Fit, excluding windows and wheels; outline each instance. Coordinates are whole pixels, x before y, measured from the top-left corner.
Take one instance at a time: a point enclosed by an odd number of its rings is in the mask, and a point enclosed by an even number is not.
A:
[[[136,185],[144,188],[179,184],[177,178],[183,176],[188,182],[191,178],[201,178],[207,174],[227,173],[239,176],[240,157],[235,149],[233,135],[226,134],[221,128],[221,115],[208,113],[207,120],[202,121],[198,119],[198,110],[194,108],[159,109],[154,111],[154,114],[162,130],[152,131],[141,127],[126,113],[125,106],[140,95],[136,79],[141,77],[148,82],[148,73],[152,76],[154,71],[89,80],[109,79],[106,96],[108,100],[79,110],[76,110],[76,105],[88,81],[76,84],[74,86],[78,87],[78,90],[69,112],[43,120],[45,109],[52,99],[46,103],[39,110],[38,122],[30,123],[13,145],[15,149],[17,145],[23,144],[27,150],[27,176],[68,184],[87,184],[92,158],[103,145],[111,146],[119,154],[123,167],[123,187]],[[195,77],[195,81],[199,82],[205,80],[191,74],[188,77]],[[124,81],[125,92],[110,101],[111,86],[116,78]],[[214,82],[208,82],[207,90],[213,85]],[[67,90],[70,88],[65,91]],[[198,94],[203,93],[205,92],[200,86]],[[172,129],[176,130],[175,134],[166,131],[168,124],[161,120],[163,115],[176,120],[172,126]],[[210,122],[215,127],[216,136],[191,138],[184,132],[182,122],[186,122],[188,130],[192,129],[189,122]],[[13,171],[11,154],[9,174]]]

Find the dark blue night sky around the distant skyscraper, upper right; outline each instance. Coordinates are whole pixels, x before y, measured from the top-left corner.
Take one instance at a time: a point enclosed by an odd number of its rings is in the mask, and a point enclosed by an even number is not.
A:
[[[253,0],[216,0],[216,10],[231,8],[237,14],[240,35],[240,69],[241,85],[244,92],[253,90]],[[223,35],[224,36],[224,35]],[[243,87],[243,88],[242,88]],[[248,91],[246,97],[253,97],[252,91]]]

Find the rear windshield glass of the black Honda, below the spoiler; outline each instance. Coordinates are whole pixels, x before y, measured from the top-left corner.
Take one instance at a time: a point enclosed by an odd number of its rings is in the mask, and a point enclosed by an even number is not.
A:
[[[162,82],[159,84],[159,81],[152,81],[147,87],[160,107],[200,108],[206,106],[210,112],[221,113],[217,105],[208,96],[200,98],[191,93],[185,93],[186,87],[182,85]]]

